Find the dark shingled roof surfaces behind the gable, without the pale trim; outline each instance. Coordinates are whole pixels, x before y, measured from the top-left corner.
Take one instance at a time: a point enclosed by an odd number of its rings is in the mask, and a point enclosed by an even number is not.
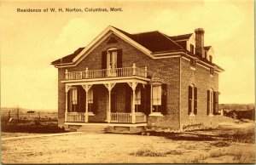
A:
[[[113,26],[112,26],[113,27]],[[147,48],[152,52],[152,54],[160,53],[160,52],[174,52],[174,51],[184,51],[184,48],[179,44],[175,43],[172,38],[175,40],[180,38],[188,38],[192,35],[180,35],[176,37],[168,37],[165,34],[161,33],[160,31],[149,31],[137,34],[130,34],[126,31],[122,31],[116,27],[114,29],[123,33],[126,37],[131,38],[136,43],[139,43],[144,48]],[[72,63],[73,59],[83,50],[84,48],[78,48],[73,54],[69,54],[59,60],[53,61],[51,64],[65,64],[65,63]]]

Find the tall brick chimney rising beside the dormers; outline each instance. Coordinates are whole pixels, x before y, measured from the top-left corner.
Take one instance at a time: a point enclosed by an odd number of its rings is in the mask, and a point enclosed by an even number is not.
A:
[[[195,29],[195,55],[201,58],[205,57],[204,33],[202,28]]]

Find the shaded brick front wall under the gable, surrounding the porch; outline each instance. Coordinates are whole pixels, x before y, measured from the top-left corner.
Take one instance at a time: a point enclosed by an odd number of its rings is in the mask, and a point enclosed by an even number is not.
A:
[[[148,55],[143,54],[137,48],[120,39],[115,35],[118,43],[108,44],[109,37],[100,43],[94,50],[75,67],[68,67],[68,71],[83,71],[86,67],[89,70],[102,69],[102,51],[108,48],[123,49],[123,67],[131,67],[136,63],[137,67],[144,68],[148,66],[148,73],[151,76],[160,77],[167,84],[167,115],[165,117],[148,117],[148,125],[154,124],[159,127],[179,127],[179,58],[168,58],[153,60]],[[65,69],[59,69],[59,125],[64,122],[65,113],[65,89],[64,84],[60,83],[64,80]],[[103,99],[102,99],[103,100]],[[91,118],[91,117],[90,117]]]

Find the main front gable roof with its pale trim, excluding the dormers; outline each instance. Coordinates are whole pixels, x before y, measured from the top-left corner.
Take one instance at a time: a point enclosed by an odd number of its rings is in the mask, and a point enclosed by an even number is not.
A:
[[[184,51],[184,49],[177,43],[175,43],[170,37],[161,33],[160,31],[149,31],[138,34],[130,34],[126,31],[122,31],[116,27],[108,26],[102,33],[96,37],[86,48],[79,48],[73,54],[69,54],[59,60],[53,61],[52,65],[69,65],[73,64],[81,59],[84,54],[89,54],[90,50],[100,43],[104,37],[113,32],[117,36],[124,39],[126,42],[142,50],[148,56],[154,58],[154,54],[160,53],[173,53]]]

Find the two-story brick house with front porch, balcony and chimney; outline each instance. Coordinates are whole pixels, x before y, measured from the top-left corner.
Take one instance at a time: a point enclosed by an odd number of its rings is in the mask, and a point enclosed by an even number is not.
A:
[[[204,30],[169,37],[108,26],[58,68],[58,124],[183,129],[218,122],[218,73]]]

